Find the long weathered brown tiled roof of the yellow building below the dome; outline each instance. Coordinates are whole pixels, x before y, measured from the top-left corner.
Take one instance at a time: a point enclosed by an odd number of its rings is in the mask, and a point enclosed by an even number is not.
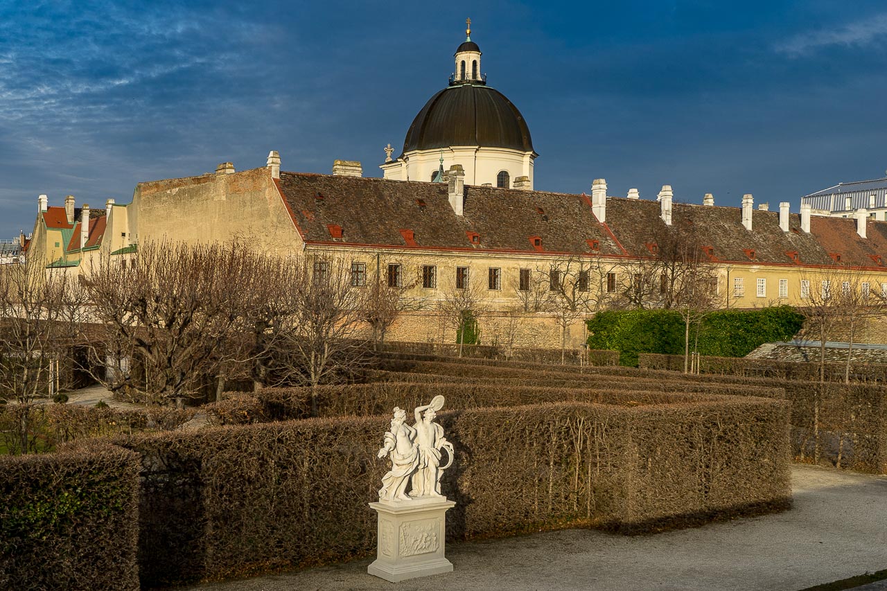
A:
[[[539,251],[530,240],[539,237],[542,252],[637,257],[651,256],[648,245],[663,227],[660,204],[647,200],[608,197],[607,224],[600,224],[584,194],[466,185],[465,215],[459,217],[446,184],[281,172],[278,186],[302,238],[316,244],[406,248],[402,231],[412,230],[418,246],[411,248],[529,254]],[[714,261],[828,265],[840,254],[843,264],[876,266],[878,255],[887,263],[885,222],[869,221],[862,239],[853,220],[812,217],[808,234],[791,215],[790,231],[782,232],[777,211],[757,209],[749,232],[739,208],[672,208],[674,226],[695,228],[699,246],[709,247]],[[341,239],[330,227],[341,227]],[[478,244],[472,232],[480,234]]]

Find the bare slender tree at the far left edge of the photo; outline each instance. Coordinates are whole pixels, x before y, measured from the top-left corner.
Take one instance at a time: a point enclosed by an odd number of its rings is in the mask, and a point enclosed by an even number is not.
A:
[[[81,313],[64,269],[35,259],[0,265],[0,398],[18,405],[10,443],[20,453],[35,451],[35,402],[67,388]]]

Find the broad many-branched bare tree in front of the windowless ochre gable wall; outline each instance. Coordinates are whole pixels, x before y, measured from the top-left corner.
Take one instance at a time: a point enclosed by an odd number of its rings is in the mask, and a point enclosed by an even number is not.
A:
[[[139,245],[130,261],[103,256],[83,276],[93,375],[109,390],[182,406],[233,350],[254,260],[237,244],[169,242]]]

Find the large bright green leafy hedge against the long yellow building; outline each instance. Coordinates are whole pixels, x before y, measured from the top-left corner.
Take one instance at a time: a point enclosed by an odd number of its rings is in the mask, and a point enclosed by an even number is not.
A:
[[[803,323],[804,316],[791,306],[712,311],[703,318],[696,351],[744,357],[764,343],[791,339]],[[684,321],[677,311],[600,311],[586,324],[588,346],[621,351],[624,366],[637,366],[639,353],[677,355],[684,351]]]

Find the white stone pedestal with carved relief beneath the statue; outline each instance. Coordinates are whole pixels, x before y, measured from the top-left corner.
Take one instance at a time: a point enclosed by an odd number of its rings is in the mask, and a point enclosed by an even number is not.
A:
[[[445,497],[370,503],[379,516],[378,547],[366,571],[392,583],[451,572],[443,548],[446,511],[455,505]]]

